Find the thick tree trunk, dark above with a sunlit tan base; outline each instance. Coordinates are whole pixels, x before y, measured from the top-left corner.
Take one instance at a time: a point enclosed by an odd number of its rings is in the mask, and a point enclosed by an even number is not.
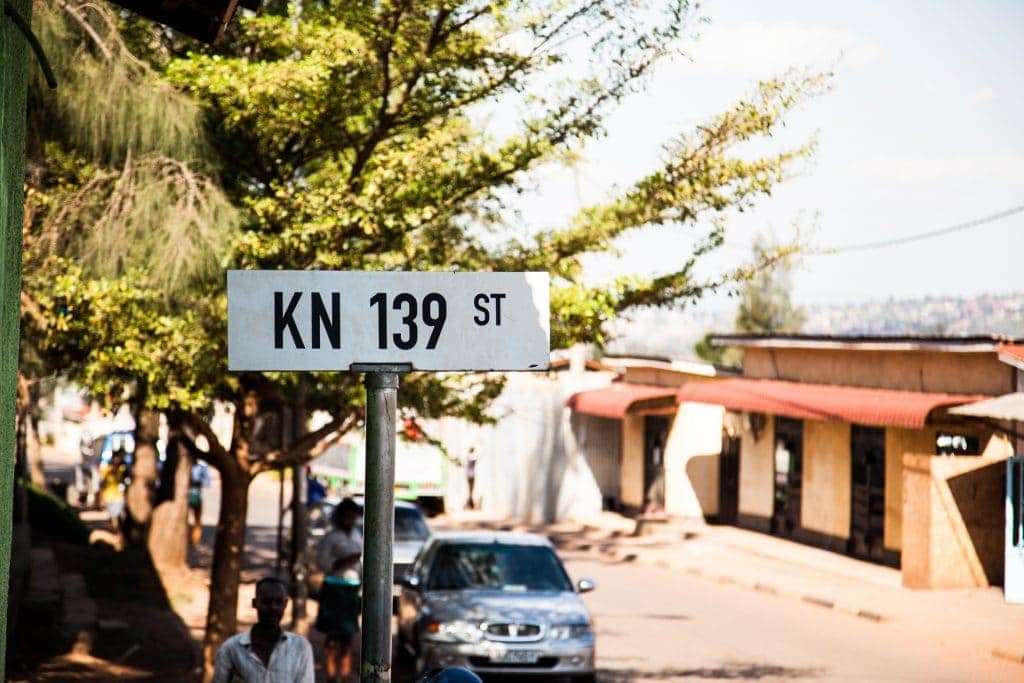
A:
[[[161,568],[184,568],[188,557],[188,476],[191,458],[176,437],[167,443],[167,460],[157,487],[147,545],[153,563]]]

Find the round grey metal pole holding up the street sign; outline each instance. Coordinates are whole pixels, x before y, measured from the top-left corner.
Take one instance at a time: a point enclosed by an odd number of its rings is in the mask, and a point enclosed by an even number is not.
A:
[[[394,581],[394,449],[401,365],[352,366],[365,372],[367,463],[362,516],[362,683],[391,680],[391,587]]]

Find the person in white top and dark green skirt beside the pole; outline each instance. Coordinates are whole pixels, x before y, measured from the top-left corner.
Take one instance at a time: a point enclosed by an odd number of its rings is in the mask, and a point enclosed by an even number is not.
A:
[[[316,549],[324,584],[314,626],[327,637],[324,669],[328,683],[344,682],[352,675],[352,638],[359,631],[362,580],[362,535],[355,527],[358,516],[359,506],[352,499],[338,503],[331,514],[334,528]]]

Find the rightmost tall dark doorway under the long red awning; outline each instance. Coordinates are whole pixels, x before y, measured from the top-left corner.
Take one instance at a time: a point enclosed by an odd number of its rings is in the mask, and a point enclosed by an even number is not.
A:
[[[850,541],[847,552],[882,562],[886,529],[886,430],[850,430]]]

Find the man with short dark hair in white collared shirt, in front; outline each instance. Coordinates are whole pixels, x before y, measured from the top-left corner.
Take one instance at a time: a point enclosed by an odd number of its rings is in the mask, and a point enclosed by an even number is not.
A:
[[[256,624],[220,646],[213,683],[313,683],[309,641],[281,628],[287,605],[285,582],[267,577],[256,584]]]

